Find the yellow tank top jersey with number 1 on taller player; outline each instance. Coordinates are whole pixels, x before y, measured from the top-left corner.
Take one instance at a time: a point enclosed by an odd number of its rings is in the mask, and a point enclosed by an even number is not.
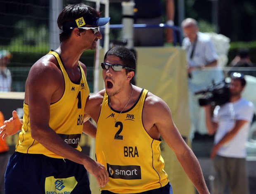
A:
[[[83,115],[85,102],[90,94],[85,73],[78,64],[81,71],[79,84],[73,83],[62,63],[62,59],[57,52],[50,51],[57,59],[59,67],[65,80],[65,90],[58,102],[50,105],[50,127],[69,145],[81,151],[78,145],[83,130]],[[44,154],[52,158],[63,158],[46,149],[42,144],[31,137],[29,104],[24,103],[24,117],[22,130],[16,144],[16,151],[26,154]]]

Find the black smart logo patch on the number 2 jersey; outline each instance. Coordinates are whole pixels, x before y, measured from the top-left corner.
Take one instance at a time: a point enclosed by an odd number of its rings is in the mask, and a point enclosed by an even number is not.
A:
[[[119,166],[107,163],[107,171],[111,178],[120,178],[125,180],[141,179],[140,166]]]

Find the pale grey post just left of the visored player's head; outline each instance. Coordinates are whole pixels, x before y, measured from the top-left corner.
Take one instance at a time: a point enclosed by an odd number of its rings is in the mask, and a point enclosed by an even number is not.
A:
[[[50,49],[57,49],[59,47],[59,34],[61,33],[61,30],[57,25],[57,19],[62,9],[63,9],[62,0],[50,0],[50,21],[49,21]]]

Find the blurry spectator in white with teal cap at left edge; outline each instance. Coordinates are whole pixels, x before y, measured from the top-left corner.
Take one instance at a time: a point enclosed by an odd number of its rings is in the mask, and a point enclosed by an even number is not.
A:
[[[0,51],[0,92],[10,92],[12,87],[12,74],[7,69],[12,54],[7,50]]]

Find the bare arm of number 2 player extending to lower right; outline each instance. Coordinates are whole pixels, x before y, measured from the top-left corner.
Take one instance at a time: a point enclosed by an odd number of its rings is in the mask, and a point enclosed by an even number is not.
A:
[[[190,178],[199,194],[209,194],[199,162],[173,123],[171,111],[167,104],[158,97],[149,98],[151,98],[151,100],[147,100],[143,109],[143,114],[147,114],[147,121],[152,121],[152,124],[156,125],[161,136],[174,151],[183,170]],[[156,112],[157,114],[154,114]],[[144,123],[144,121],[143,124],[148,126],[148,123]]]

